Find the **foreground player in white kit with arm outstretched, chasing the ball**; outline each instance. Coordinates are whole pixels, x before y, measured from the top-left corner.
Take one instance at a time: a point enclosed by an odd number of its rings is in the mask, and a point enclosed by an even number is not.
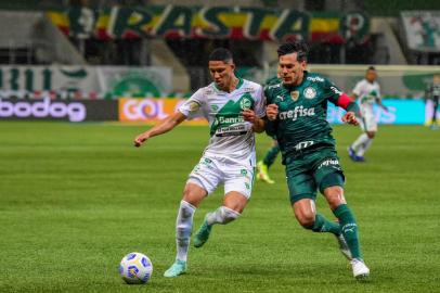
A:
[[[178,277],[186,271],[194,213],[208,194],[219,184],[224,184],[223,204],[206,214],[194,237],[195,247],[205,244],[213,225],[237,219],[250,198],[256,165],[255,128],[244,120],[243,113],[254,110],[257,116],[263,116],[264,100],[262,87],[237,78],[234,68],[229,50],[219,48],[212,51],[209,72],[213,82],[198,89],[174,115],[134,139],[134,145],[141,146],[150,138],[170,131],[187,117],[204,116],[210,125],[209,144],[190,174],[180,202],[176,221],[176,260],[164,277]],[[260,127],[259,131],[262,130]]]

